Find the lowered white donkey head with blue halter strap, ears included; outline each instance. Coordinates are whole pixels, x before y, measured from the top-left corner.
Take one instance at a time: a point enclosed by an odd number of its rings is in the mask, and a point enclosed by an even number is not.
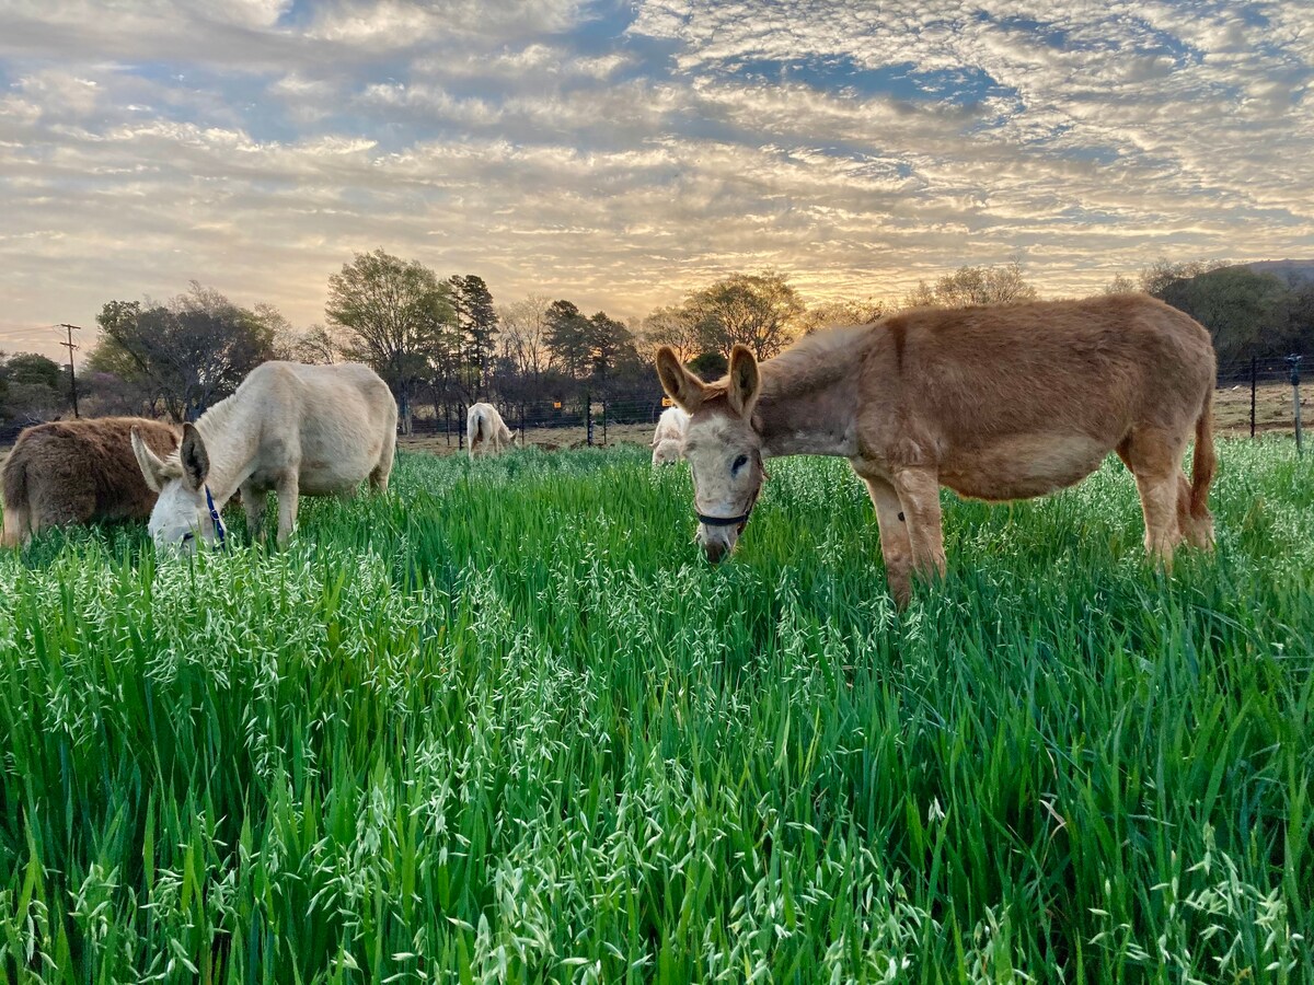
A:
[[[212,542],[225,536],[223,521],[214,517],[205,479],[210,473],[210,456],[201,432],[192,424],[183,426],[183,443],[177,457],[160,458],[133,428],[133,453],[146,485],[159,492],[151,510],[148,529],[155,549],[166,553],[194,554],[198,540]]]

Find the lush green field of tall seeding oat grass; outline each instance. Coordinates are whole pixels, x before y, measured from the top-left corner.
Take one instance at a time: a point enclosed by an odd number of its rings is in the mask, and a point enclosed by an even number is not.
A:
[[[43,537],[0,977],[1314,982],[1314,457],[1221,457],[1171,577],[1116,462],[946,494],[901,615],[840,461],[719,569],[646,449],[403,456],[281,554]]]

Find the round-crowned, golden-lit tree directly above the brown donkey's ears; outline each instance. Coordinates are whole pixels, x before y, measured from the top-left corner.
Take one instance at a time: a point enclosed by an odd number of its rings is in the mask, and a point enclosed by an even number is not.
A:
[[[784,274],[736,273],[690,294],[686,305],[696,313],[703,347],[728,355],[736,343],[770,359],[794,340],[803,302]]]

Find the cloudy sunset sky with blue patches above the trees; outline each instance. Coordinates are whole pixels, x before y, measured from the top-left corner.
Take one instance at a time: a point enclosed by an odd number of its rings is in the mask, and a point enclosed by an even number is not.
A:
[[[0,349],[376,248],[619,318],[1309,257],[1311,80],[1307,0],[3,0]]]

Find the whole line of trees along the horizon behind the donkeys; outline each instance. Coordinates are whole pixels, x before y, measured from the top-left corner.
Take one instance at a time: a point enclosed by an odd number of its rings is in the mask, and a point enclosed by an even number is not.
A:
[[[1210,330],[1221,365],[1314,349],[1314,278],[1160,260],[1106,290],[1142,290],[1193,315]],[[729,274],[623,322],[547,296],[498,305],[477,274],[440,277],[376,250],[330,276],[325,322],[302,330],[271,305],[242,307],[194,281],[168,301],[109,301],[78,385],[91,415],[189,420],[267,360],[355,360],[389,383],[409,432],[417,414],[443,418],[480,399],[520,406],[652,399],[661,345],[715,377],[736,343],[770,359],[802,335],[907,307],[1035,297],[1018,261],[961,267],[920,281],[892,305],[874,297],[808,305],[783,273],[763,271]],[[0,353],[0,423],[64,415],[70,395],[67,366],[34,353]]]

